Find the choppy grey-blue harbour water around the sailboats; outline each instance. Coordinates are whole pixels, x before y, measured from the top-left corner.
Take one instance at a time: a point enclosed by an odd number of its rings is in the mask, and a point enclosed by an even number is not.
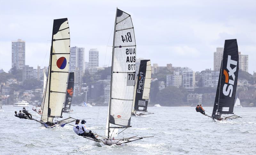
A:
[[[120,136],[154,137],[124,147],[98,147],[77,136],[70,125],[46,129],[35,121],[14,117],[19,109],[3,106],[0,112],[0,154],[256,154],[255,108],[236,108],[237,115],[250,116],[216,123],[196,113],[194,107],[148,107],[155,114],[132,117],[132,128]],[[89,129],[105,128],[108,107],[72,109],[74,118],[92,118],[86,123]],[[212,107],[204,109],[212,111]],[[104,130],[97,133],[103,135]]]

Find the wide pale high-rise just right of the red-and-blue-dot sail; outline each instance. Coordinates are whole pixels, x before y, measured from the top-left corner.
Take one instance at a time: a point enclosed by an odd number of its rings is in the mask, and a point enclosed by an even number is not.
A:
[[[76,46],[70,48],[69,71],[74,72],[76,84],[83,83],[84,48]]]

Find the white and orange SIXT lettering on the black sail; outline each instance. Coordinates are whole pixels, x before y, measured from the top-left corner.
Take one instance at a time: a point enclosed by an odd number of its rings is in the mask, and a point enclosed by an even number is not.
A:
[[[231,64],[236,67],[231,68]],[[231,60],[231,56],[228,55],[228,63],[227,63],[228,72],[225,69],[223,70],[223,74],[225,75],[225,84],[223,86],[222,92],[225,96],[229,95],[229,97],[232,97],[233,85],[236,78],[234,74],[236,72],[236,68],[237,68],[237,61]]]

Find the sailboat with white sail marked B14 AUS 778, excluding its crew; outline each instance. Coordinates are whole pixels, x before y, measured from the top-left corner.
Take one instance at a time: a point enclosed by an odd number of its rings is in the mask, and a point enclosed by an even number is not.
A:
[[[136,74],[136,43],[131,15],[116,9],[112,51],[111,85],[105,137],[92,139],[105,145],[125,145],[143,137],[117,138],[131,126],[133,90]],[[123,129],[118,132],[118,129]]]

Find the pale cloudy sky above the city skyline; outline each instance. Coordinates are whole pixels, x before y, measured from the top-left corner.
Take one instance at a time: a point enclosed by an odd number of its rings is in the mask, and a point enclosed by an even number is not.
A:
[[[26,65],[48,66],[53,19],[68,18],[70,47],[98,48],[111,65],[116,7],[132,17],[136,57],[213,70],[213,52],[237,39],[256,71],[256,1],[0,1],[0,68],[12,66],[12,41],[26,41]]]

